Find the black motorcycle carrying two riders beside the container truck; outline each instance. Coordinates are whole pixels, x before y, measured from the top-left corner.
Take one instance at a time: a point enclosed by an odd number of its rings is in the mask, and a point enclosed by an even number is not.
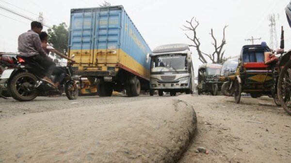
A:
[[[73,58],[74,56],[72,56]],[[39,71],[41,66],[36,62],[27,61],[24,58],[16,57],[18,64],[13,69],[5,69],[0,76],[0,83],[6,82],[10,95],[17,101],[32,101],[37,96],[60,95],[65,92],[69,100],[78,98],[78,87],[72,79],[73,62],[65,67],[65,77],[58,88],[55,88],[46,80],[42,79],[43,74]],[[54,80],[57,76],[52,75]]]

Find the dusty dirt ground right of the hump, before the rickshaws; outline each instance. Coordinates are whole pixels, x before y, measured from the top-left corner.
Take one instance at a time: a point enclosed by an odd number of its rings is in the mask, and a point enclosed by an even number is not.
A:
[[[197,133],[179,163],[290,163],[291,117],[271,98],[179,96],[194,105]],[[268,105],[261,105],[268,104]],[[196,153],[204,147],[209,154]]]

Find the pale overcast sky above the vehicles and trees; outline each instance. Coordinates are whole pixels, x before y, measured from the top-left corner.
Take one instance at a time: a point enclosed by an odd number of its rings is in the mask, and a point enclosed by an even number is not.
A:
[[[239,55],[242,45],[251,44],[245,39],[261,38],[270,42],[268,15],[275,13],[278,40],[280,26],[285,28],[285,49],[291,48],[291,29],[288,26],[285,7],[290,0],[107,0],[112,5],[123,5],[130,18],[153,50],[161,44],[192,44],[181,30],[193,16],[200,23],[197,34],[201,49],[213,52],[209,35],[213,28],[218,40],[226,29],[226,56]],[[7,3],[8,2],[8,3]],[[10,3],[10,4],[9,4]],[[21,15],[37,18],[42,12],[46,24],[52,26],[70,22],[70,9],[98,7],[103,0],[0,0],[0,6]],[[30,29],[30,20],[0,9],[0,51],[16,52],[18,35]],[[47,30],[45,28],[44,30]],[[190,33],[189,33],[190,34]],[[261,41],[255,41],[259,44]],[[201,64],[194,54],[195,68]]]

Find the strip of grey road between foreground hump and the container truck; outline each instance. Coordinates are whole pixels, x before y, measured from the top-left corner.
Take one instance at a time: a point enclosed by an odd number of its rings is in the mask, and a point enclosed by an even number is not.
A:
[[[170,96],[167,96],[170,97]],[[66,97],[37,97],[30,102],[18,102],[14,99],[5,100],[0,98],[0,119],[13,117],[21,114],[45,112],[51,110],[69,109],[80,106],[119,104],[149,99],[159,99],[166,97],[159,96],[80,96],[77,100],[68,100]]]

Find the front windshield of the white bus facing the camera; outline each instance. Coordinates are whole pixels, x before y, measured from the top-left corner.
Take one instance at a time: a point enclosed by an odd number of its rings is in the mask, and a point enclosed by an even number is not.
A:
[[[187,71],[186,54],[166,54],[151,58],[151,72]]]

